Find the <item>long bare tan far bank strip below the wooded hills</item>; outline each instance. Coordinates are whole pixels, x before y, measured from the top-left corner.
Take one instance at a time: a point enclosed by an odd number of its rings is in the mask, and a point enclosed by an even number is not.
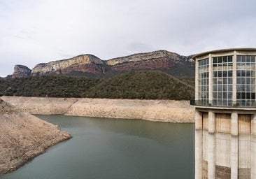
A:
[[[2,96],[16,111],[38,115],[72,115],[149,120],[155,122],[194,122],[189,101],[139,99],[88,99]]]

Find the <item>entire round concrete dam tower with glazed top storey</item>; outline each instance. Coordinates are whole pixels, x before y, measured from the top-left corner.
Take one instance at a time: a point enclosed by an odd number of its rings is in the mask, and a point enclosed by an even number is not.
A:
[[[256,48],[194,60],[195,179],[256,179]]]

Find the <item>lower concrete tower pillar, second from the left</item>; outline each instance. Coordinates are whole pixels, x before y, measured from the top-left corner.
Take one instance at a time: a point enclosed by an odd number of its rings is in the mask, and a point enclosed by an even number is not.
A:
[[[215,179],[215,113],[208,112],[208,179]]]

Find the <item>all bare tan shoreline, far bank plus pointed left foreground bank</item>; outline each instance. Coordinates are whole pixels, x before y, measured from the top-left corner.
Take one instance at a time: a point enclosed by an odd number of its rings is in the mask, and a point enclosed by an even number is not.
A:
[[[31,114],[194,122],[194,108],[189,101],[2,96],[0,176],[15,171],[50,146],[71,138],[56,125]]]

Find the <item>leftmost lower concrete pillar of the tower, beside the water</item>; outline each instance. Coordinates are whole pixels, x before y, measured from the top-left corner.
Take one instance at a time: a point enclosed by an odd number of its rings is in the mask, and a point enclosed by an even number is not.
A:
[[[195,179],[202,178],[202,129],[203,120],[202,114],[196,109],[195,113],[195,139],[194,139],[194,159],[195,159]]]

